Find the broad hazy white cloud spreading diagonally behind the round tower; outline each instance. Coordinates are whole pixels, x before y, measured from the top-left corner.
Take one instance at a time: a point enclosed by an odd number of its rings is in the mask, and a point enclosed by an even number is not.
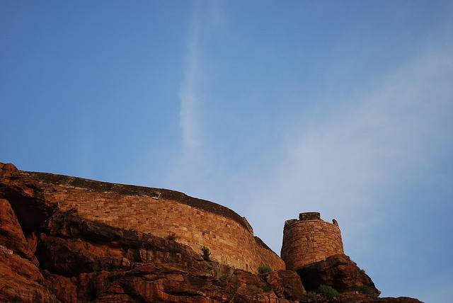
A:
[[[347,103],[332,101],[341,108],[298,124],[288,136],[285,159],[261,190],[250,193],[251,209],[261,210],[249,212],[256,229],[278,251],[282,222],[262,217],[321,211],[348,222],[346,239],[358,250],[362,227],[382,223],[379,210],[389,203],[379,200],[382,193],[410,185],[452,145],[451,79],[452,55],[425,55],[387,75],[375,91]]]

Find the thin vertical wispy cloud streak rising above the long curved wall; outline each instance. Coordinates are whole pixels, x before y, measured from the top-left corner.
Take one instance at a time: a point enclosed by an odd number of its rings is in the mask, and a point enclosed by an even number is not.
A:
[[[214,160],[207,152],[203,134],[202,109],[205,100],[205,72],[202,60],[202,40],[208,40],[210,31],[222,22],[219,2],[209,5],[194,2],[188,24],[185,65],[180,85],[180,152],[171,168],[166,171],[168,187],[191,195],[202,195],[202,188],[210,179]],[[203,39],[202,39],[203,38]],[[206,197],[205,197],[206,198]]]

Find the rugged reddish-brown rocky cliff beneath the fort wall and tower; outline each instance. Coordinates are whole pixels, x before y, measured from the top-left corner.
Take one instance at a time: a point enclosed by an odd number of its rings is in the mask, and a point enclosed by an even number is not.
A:
[[[345,255],[249,273],[159,237],[62,210],[39,183],[0,163],[1,302],[419,302],[379,298]],[[319,291],[330,285],[341,294]],[[308,291],[308,292],[307,292]]]

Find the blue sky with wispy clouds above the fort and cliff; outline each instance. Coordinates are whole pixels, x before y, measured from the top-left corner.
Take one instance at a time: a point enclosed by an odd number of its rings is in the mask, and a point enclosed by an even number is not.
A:
[[[180,190],[280,253],[335,218],[382,296],[453,289],[453,1],[0,0],[0,161]]]

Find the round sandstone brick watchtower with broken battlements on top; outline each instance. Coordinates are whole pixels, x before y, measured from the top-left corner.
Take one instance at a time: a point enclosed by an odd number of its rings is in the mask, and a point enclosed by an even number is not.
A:
[[[319,212],[302,212],[299,219],[285,222],[280,256],[287,269],[297,270],[338,253],[344,252],[340,227],[335,219],[329,223],[321,219]]]

